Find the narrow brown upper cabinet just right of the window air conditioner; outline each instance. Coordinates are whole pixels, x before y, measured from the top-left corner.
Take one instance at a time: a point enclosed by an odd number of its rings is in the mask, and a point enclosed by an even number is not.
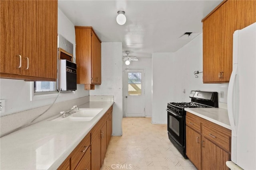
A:
[[[92,27],[75,26],[77,84],[85,90],[101,84],[101,41]]]

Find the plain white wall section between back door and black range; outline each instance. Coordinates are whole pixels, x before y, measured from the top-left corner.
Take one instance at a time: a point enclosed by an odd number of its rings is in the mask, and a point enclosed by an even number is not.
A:
[[[176,74],[174,53],[152,54],[152,119],[151,122],[167,123],[166,106],[175,100]]]

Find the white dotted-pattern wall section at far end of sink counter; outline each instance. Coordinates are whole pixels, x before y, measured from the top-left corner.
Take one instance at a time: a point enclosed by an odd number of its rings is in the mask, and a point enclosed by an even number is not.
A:
[[[122,43],[101,43],[100,86],[90,96],[114,96],[112,135],[122,135]]]

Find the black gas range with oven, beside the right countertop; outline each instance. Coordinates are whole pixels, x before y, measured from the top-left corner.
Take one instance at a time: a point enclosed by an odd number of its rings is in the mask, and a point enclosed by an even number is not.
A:
[[[168,137],[184,158],[186,157],[186,111],[185,108],[218,107],[218,92],[191,91],[191,102],[167,104]]]

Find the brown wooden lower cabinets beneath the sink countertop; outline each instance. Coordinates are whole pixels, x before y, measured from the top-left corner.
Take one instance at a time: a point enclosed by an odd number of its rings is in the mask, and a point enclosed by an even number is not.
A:
[[[111,121],[109,121],[110,116]],[[110,140],[108,137],[110,132],[112,134],[112,106],[59,166],[58,170],[100,170],[107,143]]]

